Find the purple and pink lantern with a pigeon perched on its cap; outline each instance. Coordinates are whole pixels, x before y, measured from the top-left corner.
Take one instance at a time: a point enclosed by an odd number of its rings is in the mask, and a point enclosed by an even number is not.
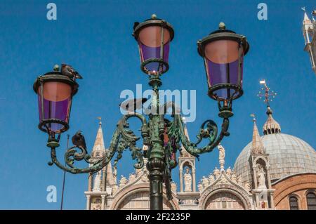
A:
[[[52,138],[69,129],[72,96],[78,84],[60,72],[48,72],[37,78],[33,89],[38,95],[39,129]]]

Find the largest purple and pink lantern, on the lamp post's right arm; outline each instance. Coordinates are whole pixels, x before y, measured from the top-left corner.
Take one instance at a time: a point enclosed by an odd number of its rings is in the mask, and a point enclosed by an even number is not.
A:
[[[197,42],[198,52],[204,58],[209,96],[224,104],[242,96],[244,55],[249,51],[246,37],[220,29]]]

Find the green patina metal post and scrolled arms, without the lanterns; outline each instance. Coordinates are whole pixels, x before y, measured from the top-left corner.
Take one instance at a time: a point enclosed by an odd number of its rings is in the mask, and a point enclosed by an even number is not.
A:
[[[110,147],[107,150],[107,154],[101,159],[91,162],[90,155],[82,147],[74,145],[65,152],[65,166],[58,161],[56,156],[56,147],[59,146],[58,139],[49,138],[47,146],[51,147],[51,162],[48,164],[51,166],[55,164],[60,169],[70,173],[96,173],[103,169],[114,157],[114,166],[117,165],[119,159],[122,157],[124,150],[129,149],[131,151],[132,159],[136,160],[134,167],[141,169],[144,165],[143,158],[147,157],[147,169],[150,171],[150,209],[162,209],[162,187],[163,183],[166,186],[166,193],[168,199],[172,199],[171,195],[171,169],[177,165],[176,158],[171,157],[173,153],[180,150],[180,144],[183,144],[187,152],[195,157],[199,157],[199,154],[205,152],[211,152],[214,147],[220,143],[224,136],[229,136],[228,126],[229,117],[232,116],[231,104],[221,106],[218,103],[220,110],[220,117],[223,117],[223,124],[221,131],[218,135],[218,126],[212,120],[206,120],[201,125],[199,133],[197,135],[197,141],[195,143],[190,142],[185,136],[183,119],[181,114],[176,112],[176,105],[173,102],[159,104],[159,86],[162,85],[162,81],[159,78],[159,74],[150,76],[149,85],[152,86],[153,99],[151,105],[152,113],[148,115],[148,120],[142,114],[126,114],[117,123],[117,128],[113,133]],[[166,111],[171,107],[173,120],[169,121],[165,119]],[[136,117],[141,121],[140,133],[141,136],[136,136],[131,129],[129,129],[128,120],[132,117]],[[164,145],[164,132],[166,127],[166,133],[169,139],[173,140]],[[148,151],[145,154],[143,148],[137,147],[137,142],[143,139],[143,145],[148,146]],[[209,140],[209,143],[204,147],[198,147],[203,139]],[[77,161],[84,160],[89,164],[86,168],[79,168],[74,165]]]

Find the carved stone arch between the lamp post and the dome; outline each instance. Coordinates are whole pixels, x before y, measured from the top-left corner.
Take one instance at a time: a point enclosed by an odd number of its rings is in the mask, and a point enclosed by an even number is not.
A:
[[[235,197],[240,199],[240,202],[242,202],[245,210],[252,208],[252,203],[247,193],[241,188],[230,184],[220,184],[208,187],[208,189],[204,191],[203,195],[199,199],[199,208],[202,210],[206,209],[206,203],[209,201],[209,199],[211,199],[213,195],[216,195],[220,192],[228,192],[231,195],[235,195]]]

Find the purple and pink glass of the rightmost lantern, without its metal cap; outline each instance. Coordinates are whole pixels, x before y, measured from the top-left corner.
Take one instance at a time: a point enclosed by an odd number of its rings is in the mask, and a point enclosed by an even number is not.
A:
[[[205,67],[209,87],[216,84],[235,84],[242,87],[241,77],[238,79],[239,70],[239,44],[232,40],[212,41],[205,46]],[[240,56],[243,60],[243,54]],[[230,98],[235,93],[232,88],[221,88],[214,93],[219,98]]]

